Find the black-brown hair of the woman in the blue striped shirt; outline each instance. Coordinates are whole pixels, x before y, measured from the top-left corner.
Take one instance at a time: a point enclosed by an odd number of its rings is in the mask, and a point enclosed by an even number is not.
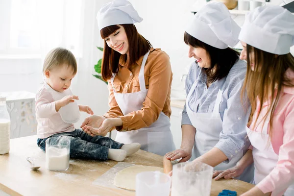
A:
[[[205,68],[208,82],[214,82],[227,76],[234,64],[239,60],[239,52],[230,48],[218,49],[212,47],[187,32],[184,34],[184,42],[194,48],[202,48],[207,51],[211,61],[210,68]]]

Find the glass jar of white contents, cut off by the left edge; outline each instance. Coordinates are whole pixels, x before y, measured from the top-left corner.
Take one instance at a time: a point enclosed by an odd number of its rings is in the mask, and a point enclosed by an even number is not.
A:
[[[0,154],[10,150],[10,117],[6,107],[6,98],[0,97]]]

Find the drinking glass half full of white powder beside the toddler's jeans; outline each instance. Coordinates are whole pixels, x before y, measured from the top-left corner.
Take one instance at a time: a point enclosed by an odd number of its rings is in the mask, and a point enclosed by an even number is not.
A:
[[[67,171],[70,167],[71,141],[67,136],[46,140],[46,168],[51,171]]]

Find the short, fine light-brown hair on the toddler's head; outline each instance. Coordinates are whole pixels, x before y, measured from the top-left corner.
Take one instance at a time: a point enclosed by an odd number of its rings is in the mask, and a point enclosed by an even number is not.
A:
[[[65,64],[72,67],[73,74],[75,75],[77,72],[77,64],[73,53],[70,50],[64,48],[52,49],[45,57],[43,74],[45,74],[47,70],[50,71]]]

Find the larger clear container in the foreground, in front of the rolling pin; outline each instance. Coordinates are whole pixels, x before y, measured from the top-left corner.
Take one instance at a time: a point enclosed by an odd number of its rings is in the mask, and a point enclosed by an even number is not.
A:
[[[213,167],[186,162],[172,167],[172,196],[210,196]]]

